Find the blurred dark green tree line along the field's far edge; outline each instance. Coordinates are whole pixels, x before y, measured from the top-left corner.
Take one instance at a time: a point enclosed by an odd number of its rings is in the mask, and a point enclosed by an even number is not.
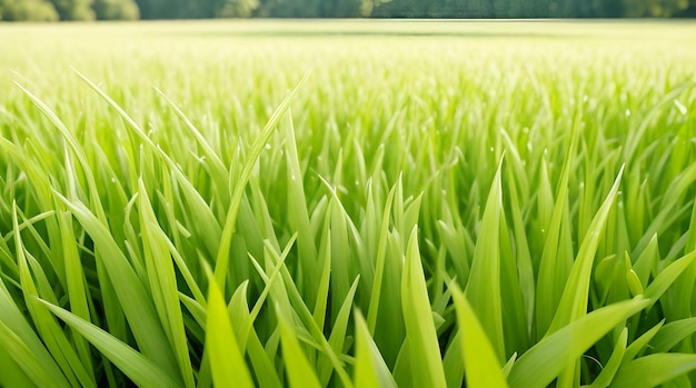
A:
[[[2,21],[696,17],[696,0],[0,0]]]

